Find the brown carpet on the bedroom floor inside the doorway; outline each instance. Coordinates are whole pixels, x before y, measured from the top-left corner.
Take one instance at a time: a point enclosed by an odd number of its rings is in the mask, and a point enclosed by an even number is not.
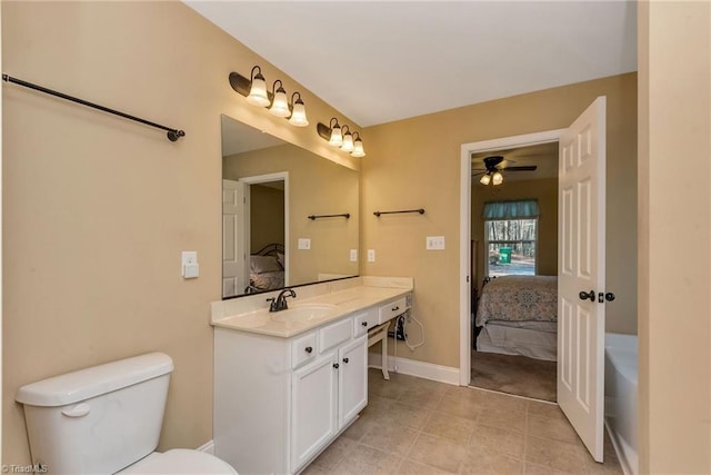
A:
[[[471,352],[470,386],[555,402],[555,362]]]

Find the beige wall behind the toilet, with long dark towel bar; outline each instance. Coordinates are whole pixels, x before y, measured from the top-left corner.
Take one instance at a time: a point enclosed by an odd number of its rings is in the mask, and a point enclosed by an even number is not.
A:
[[[160,447],[197,447],[212,438],[220,115],[348,161],[248,106],[228,76],[259,63],[313,123],[337,111],[180,2],[0,6],[4,73],[187,132],[173,144],[3,83],[2,462],[29,463],[18,387],[151,350],[176,364]],[[199,278],[180,277],[182,250],[198,251]]]

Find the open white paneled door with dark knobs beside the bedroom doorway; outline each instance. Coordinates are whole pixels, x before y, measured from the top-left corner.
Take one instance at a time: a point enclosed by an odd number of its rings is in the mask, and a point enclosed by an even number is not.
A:
[[[605,98],[560,139],[558,404],[602,462],[604,395]]]

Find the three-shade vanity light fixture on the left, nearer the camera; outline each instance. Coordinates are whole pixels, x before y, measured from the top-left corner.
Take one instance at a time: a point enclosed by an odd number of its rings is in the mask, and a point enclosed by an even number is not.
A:
[[[268,91],[267,81],[259,66],[252,68],[249,79],[238,72],[230,72],[230,86],[236,92],[244,96],[247,102],[252,106],[268,107],[270,113],[288,118],[292,126],[306,127],[309,125],[301,93],[294,92],[291,96],[291,103],[289,103],[281,79],[277,79],[272,85],[272,90]],[[294,97],[298,97],[296,101]]]

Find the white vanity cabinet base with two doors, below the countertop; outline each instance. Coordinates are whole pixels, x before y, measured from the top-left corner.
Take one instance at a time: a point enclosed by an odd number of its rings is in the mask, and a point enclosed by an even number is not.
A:
[[[239,473],[296,473],[368,404],[353,315],[291,338],[214,328],[214,452]]]

